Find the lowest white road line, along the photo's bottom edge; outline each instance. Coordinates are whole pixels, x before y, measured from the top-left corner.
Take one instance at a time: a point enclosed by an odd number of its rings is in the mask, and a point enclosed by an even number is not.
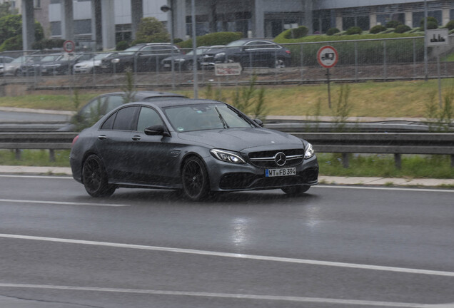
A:
[[[257,295],[257,294],[234,294],[234,293],[211,293],[211,292],[181,292],[181,291],[164,291],[153,289],[115,289],[103,287],[74,287],[49,284],[7,284],[0,283],[0,287],[11,288],[28,288],[28,289],[59,289],[71,291],[91,291],[91,292],[116,292],[116,293],[131,293],[131,294],[153,294],[153,295],[177,295],[188,297],[219,297],[228,299],[260,299],[274,300],[286,302],[312,302],[323,304],[347,304],[347,305],[363,305],[375,307],[405,307],[405,308],[435,308],[435,307],[452,307],[452,304],[416,304],[402,302],[375,302],[356,299],[329,299],[320,297],[291,297],[278,295]]]

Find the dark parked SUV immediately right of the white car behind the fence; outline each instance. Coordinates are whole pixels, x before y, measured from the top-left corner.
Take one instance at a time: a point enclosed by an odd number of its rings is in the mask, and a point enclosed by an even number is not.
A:
[[[131,71],[156,71],[161,61],[168,56],[181,53],[180,48],[170,43],[143,43],[118,52],[101,60],[104,73]]]

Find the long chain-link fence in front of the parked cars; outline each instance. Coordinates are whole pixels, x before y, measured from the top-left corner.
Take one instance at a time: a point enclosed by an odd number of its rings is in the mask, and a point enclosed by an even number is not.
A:
[[[454,36],[450,36],[448,45],[428,48],[427,62],[423,37],[201,47],[196,56],[198,82],[246,83],[253,74],[258,83],[324,82],[327,70],[318,64],[316,55],[326,45],[338,51],[338,63],[329,71],[332,81],[454,77],[454,61],[448,61],[454,53]],[[191,49],[166,43],[146,46],[105,53],[4,52],[0,55],[1,78],[4,84],[24,83],[30,88],[118,88],[125,83],[125,72],[131,71],[138,88],[193,85]],[[216,76],[216,62],[241,63],[241,74]]]

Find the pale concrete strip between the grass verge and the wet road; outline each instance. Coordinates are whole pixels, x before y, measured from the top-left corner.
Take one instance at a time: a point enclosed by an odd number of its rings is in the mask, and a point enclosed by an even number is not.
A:
[[[23,175],[66,175],[72,176],[71,168],[65,167],[26,167],[0,165],[0,174],[23,174]],[[442,187],[452,186],[454,179],[403,179],[403,178],[361,178],[361,177],[318,177],[321,184],[330,185],[373,185],[373,186],[423,186]]]

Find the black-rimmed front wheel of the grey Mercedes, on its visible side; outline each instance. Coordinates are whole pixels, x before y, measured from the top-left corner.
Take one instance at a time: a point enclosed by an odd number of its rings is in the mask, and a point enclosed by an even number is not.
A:
[[[183,194],[190,200],[203,200],[209,193],[210,185],[205,164],[195,156],[188,158],[183,163],[181,170]]]

